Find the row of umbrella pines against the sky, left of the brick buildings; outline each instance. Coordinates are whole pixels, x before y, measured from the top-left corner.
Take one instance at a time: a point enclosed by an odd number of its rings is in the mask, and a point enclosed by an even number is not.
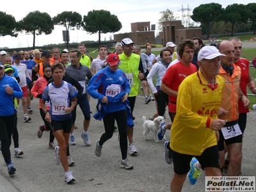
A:
[[[55,17],[51,17],[45,12],[30,12],[22,20],[16,21],[12,15],[0,12],[0,36],[18,36],[20,32],[26,31],[33,35],[33,49],[35,49],[36,35],[49,35],[54,29],[54,25],[64,26],[66,31],[66,46],[68,48],[68,31],[83,28],[90,34],[115,33],[122,28],[121,22],[116,15],[106,10],[92,10],[87,15],[82,16],[77,12],[62,12]]]

